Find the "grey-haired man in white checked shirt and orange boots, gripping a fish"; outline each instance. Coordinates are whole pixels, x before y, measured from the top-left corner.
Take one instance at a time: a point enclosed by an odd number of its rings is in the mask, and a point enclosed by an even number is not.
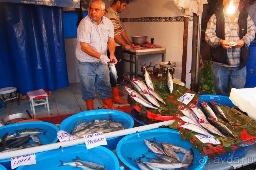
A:
[[[81,82],[82,99],[87,110],[94,110],[95,86],[100,94],[105,109],[120,110],[113,106],[108,62],[118,61],[115,57],[114,27],[112,22],[104,17],[105,3],[102,0],[92,0],[89,12],[77,27],[77,45],[75,55],[78,59],[77,73]],[[107,56],[110,52],[110,60]]]

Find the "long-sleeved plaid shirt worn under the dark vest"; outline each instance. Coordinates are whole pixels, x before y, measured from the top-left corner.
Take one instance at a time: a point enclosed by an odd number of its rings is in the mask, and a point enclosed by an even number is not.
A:
[[[237,14],[235,16],[234,25],[232,25],[232,22],[230,18],[226,15],[224,11],[224,17],[225,17],[225,39],[228,42],[236,42],[240,39],[239,37],[239,24],[238,24],[238,17],[239,17],[239,10],[237,10]],[[209,19],[207,23],[207,28],[205,31],[205,40],[206,42],[212,46],[212,48],[216,48],[220,46],[221,39],[216,36],[216,16],[213,14],[211,18]],[[245,46],[249,46],[251,41],[255,37],[255,26],[253,23],[253,20],[250,16],[247,18],[247,33],[242,38],[244,40]],[[227,50],[227,62],[229,64],[223,64],[223,63],[217,63],[218,65],[224,66],[224,67],[238,67],[240,65],[240,48],[228,48]]]

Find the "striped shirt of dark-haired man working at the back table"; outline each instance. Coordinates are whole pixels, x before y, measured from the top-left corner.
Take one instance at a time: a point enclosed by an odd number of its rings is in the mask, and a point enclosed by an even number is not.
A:
[[[111,7],[108,7],[105,11],[105,17],[110,19],[114,25],[114,35],[119,35],[121,37],[121,32],[124,31],[123,26],[120,21],[120,17],[117,12],[115,12]],[[121,46],[118,43],[115,43],[115,46]]]

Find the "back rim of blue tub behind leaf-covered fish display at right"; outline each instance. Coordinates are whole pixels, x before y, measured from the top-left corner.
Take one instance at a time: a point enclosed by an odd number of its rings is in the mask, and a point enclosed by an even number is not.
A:
[[[198,106],[199,105],[199,102],[202,102],[202,101],[210,101],[212,102],[213,100],[217,103],[220,103],[222,105],[225,105],[225,106],[228,106],[228,107],[233,107],[235,106],[231,100],[229,100],[229,97],[228,96],[222,96],[222,95],[214,95],[214,94],[202,94],[200,95],[200,99],[198,99]]]

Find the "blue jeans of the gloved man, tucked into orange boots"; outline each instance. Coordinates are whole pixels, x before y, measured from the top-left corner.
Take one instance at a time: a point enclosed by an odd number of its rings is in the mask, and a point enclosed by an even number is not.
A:
[[[108,65],[100,63],[87,63],[78,61],[77,74],[81,82],[82,99],[95,99],[96,91],[102,99],[109,99],[111,94],[111,85],[109,78]]]

